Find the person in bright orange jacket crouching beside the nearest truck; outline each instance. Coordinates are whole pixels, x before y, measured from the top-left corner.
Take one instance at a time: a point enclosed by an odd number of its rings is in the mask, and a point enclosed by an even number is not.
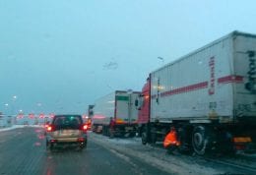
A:
[[[164,138],[163,146],[164,148],[167,148],[168,151],[172,151],[179,145],[180,143],[177,139],[177,132],[174,127],[171,127],[169,133]]]

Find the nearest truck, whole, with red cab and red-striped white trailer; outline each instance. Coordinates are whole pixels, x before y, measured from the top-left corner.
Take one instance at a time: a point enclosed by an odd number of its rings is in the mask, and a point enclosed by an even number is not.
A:
[[[173,127],[180,150],[255,147],[256,35],[231,32],[152,72],[136,104],[143,144]]]

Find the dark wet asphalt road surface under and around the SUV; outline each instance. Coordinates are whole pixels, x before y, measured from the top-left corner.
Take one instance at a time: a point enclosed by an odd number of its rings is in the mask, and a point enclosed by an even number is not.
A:
[[[165,175],[141,159],[88,141],[83,151],[74,146],[46,149],[42,128],[0,133],[0,175]]]

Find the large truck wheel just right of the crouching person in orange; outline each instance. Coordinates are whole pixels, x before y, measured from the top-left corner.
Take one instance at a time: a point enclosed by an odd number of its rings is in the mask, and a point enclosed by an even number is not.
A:
[[[195,152],[204,155],[208,146],[208,137],[204,126],[197,126],[192,133],[192,145]]]

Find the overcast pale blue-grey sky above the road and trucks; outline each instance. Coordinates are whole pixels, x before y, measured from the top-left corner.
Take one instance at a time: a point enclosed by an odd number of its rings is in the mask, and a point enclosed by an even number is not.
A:
[[[0,0],[0,111],[83,113],[114,89],[140,90],[162,66],[158,57],[171,62],[235,29],[256,33],[255,7],[254,0]]]

